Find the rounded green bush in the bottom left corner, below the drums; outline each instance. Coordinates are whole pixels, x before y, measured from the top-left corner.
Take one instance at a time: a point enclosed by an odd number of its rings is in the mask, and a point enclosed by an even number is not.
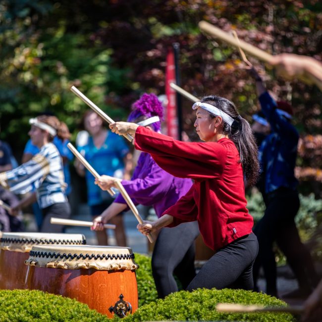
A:
[[[105,315],[76,300],[36,290],[0,290],[1,322],[107,322]]]

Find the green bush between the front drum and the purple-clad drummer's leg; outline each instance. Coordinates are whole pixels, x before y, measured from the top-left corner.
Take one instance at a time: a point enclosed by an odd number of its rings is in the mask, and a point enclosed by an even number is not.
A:
[[[152,276],[151,257],[135,254],[135,262],[140,266],[136,270],[140,307],[156,301],[158,293]]]

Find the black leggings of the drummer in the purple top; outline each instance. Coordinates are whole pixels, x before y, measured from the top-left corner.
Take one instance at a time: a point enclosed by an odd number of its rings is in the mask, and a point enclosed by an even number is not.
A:
[[[194,241],[198,235],[197,221],[161,229],[152,255],[152,273],[159,298],[178,291],[173,274],[184,289],[196,276]]]

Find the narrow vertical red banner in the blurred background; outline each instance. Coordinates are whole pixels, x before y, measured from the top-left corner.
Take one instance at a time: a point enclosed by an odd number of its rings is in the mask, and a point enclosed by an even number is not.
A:
[[[167,135],[178,139],[178,117],[176,107],[176,93],[170,87],[170,83],[175,83],[175,63],[174,52],[170,48],[166,55],[166,69],[165,69],[165,95],[167,98],[166,107],[166,127]]]

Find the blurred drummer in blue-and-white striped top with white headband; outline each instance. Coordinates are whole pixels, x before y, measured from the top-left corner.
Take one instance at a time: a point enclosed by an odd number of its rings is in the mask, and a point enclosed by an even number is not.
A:
[[[31,141],[40,151],[30,161],[0,173],[0,184],[15,194],[32,192],[11,208],[13,215],[37,200],[44,215],[41,232],[62,232],[62,225],[52,225],[50,218],[68,218],[70,206],[65,194],[62,160],[53,144],[61,136],[60,122],[55,116],[38,116],[29,120]]]

